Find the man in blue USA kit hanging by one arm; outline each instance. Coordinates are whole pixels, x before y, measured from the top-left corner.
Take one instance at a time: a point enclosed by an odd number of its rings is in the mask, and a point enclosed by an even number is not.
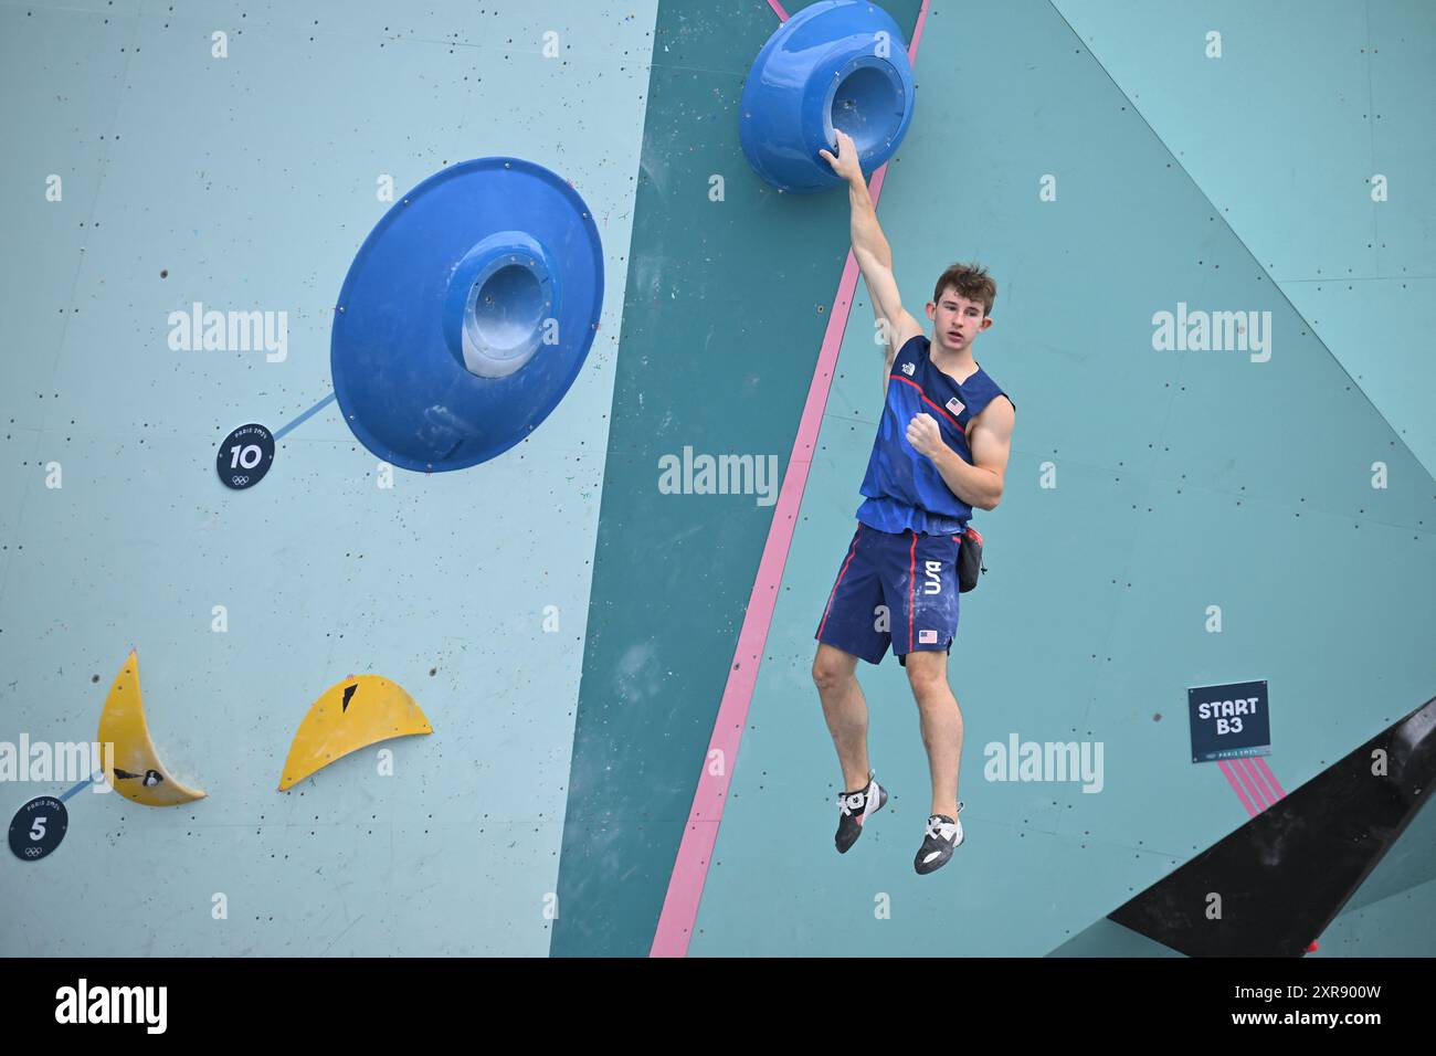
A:
[[[846,853],[864,818],[887,802],[867,764],[857,661],[880,662],[890,644],[906,668],[932,772],[932,813],[913,868],[929,874],[962,843],[962,713],[948,687],[958,546],[972,510],[997,509],[1002,499],[1017,408],[972,358],[976,336],[992,325],[992,279],[975,266],[945,270],[928,303],[929,341],[902,306],[853,139],[839,132],[837,142],[837,157],[821,157],[847,181],[853,256],[887,342],[886,402],[860,488],[857,530],[817,628],[813,681],[843,767],[834,839]]]

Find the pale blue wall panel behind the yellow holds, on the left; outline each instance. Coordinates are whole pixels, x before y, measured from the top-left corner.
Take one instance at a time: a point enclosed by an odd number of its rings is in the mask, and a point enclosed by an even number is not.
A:
[[[134,644],[162,757],[210,793],[72,799],[59,852],[0,868],[0,951],[547,953],[655,10],[0,7],[0,738],[92,738]],[[379,178],[485,154],[553,168],[599,221],[602,325],[564,402],[392,488],[330,404],[225,491],[225,432],[332,391]],[[287,355],[171,351],[192,302],[286,312]],[[277,793],[309,705],[365,671],[435,733],[388,746],[393,777],[370,749]]]

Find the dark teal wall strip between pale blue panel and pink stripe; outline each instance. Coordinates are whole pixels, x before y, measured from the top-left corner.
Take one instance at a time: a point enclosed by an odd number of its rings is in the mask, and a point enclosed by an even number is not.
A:
[[[916,0],[883,7],[910,32]],[[846,203],[773,191],[738,144],[742,79],[777,24],[761,0],[659,7],[559,955],[649,951],[773,517],[755,494],[661,493],[659,458],[787,468],[847,253]]]

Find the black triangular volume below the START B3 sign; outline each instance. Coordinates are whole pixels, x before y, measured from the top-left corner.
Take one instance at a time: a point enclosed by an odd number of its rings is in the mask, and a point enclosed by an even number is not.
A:
[[[1379,750],[1386,773],[1373,773]],[[1192,957],[1300,957],[1433,782],[1436,697],[1109,917]],[[1208,917],[1213,894],[1219,920]]]

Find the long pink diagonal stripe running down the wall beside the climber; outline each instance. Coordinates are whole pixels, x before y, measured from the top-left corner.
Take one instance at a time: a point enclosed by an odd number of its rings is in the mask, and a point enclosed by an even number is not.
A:
[[[931,0],[922,0],[922,9],[918,11],[912,43],[908,46],[909,62],[918,57],[918,42],[922,39],[922,26],[928,17],[929,3]],[[780,10],[775,3],[773,7]],[[869,181],[869,194],[875,205],[882,194],[886,172],[887,165],[883,165],[873,172]],[[708,741],[708,751],[704,754],[702,770],[698,774],[694,806],[688,813],[688,825],[684,829],[673,872],[668,881],[663,911],[659,914],[653,945],[649,950],[651,957],[684,957],[688,953],[694,922],[698,920],[698,902],[702,899],[704,882],[708,879],[708,863],[712,861],[714,845],[718,842],[718,823],[722,820],[722,809],[728,800],[728,784],[738,761],[742,727],[748,721],[748,707],[752,703],[752,688],[758,678],[758,665],[763,661],[763,647],[768,641],[768,628],[773,625],[773,609],[778,601],[783,568],[787,563],[788,546],[793,543],[793,532],[797,527],[798,507],[803,504],[803,488],[807,487],[807,474],[813,464],[813,451],[817,447],[817,434],[823,424],[823,409],[827,407],[827,394],[833,386],[837,353],[843,345],[843,330],[847,328],[847,316],[853,307],[857,279],[857,259],[849,249],[843,277],[837,284],[837,296],[833,299],[833,310],[827,318],[827,330],[823,333],[817,366],[808,385],[807,402],[803,405],[803,417],[798,421],[798,434],[793,441],[793,454],[788,457],[788,468],[783,476],[783,488],[778,491],[773,524],[768,527],[768,539],[763,546],[758,576],[748,595],[747,615],[742,621],[742,629],[738,632],[738,648],[734,651],[732,665],[728,668],[728,684],[724,687],[722,700],[718,704],[718,718],[714,721],[714,733]],[[718,773],[714,773],[715,770]]]

